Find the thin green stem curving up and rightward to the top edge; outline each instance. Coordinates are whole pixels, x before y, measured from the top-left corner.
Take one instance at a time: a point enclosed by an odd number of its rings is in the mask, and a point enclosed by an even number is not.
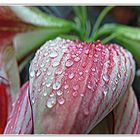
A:
[[[93,28],[92,35],[91,35],[91,39],[90,39],[90,40],[94,40],[94,39],[95,39],[96,32],[98,31],[102,20],[104,19],[104,17],[107,15],[107,13],[108,13],[112,8],[113,8],[113,6],[105,7],[105,8],[103,9],[103,11],[100,13],[100,15],[98,16],[98,18],[97,18],[97,20],[96,20],[96,22],[95,22],[95,25],[94,25],[94,28]]]

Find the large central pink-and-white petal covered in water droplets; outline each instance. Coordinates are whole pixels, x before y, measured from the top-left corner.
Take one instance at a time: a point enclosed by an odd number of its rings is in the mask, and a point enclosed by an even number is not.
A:
[[[53,51],[57,55],[52,58]],[[76,57],[80,60],[75,61]],[[62,73],[56,74],[57,69]],[[30,66],[34,132],[89,133],[119,103],[134,71],[131,54],[116,44],[61,38],[47,42]]]

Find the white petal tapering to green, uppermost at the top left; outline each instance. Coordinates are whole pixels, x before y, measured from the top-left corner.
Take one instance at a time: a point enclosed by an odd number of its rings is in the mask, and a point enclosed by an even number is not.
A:
[[[11,6],[11,10],[24,22],[45,27],[71,27],[72,22],[49,16],[35,7]]]

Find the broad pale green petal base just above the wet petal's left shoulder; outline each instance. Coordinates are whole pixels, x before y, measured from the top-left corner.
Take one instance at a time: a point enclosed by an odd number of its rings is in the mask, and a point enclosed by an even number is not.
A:
[[[45,43],[45,41],[68,31],[69,29],[67,28],[41,28],[35,31],[17,34],[13,39],[17,60],[20,63],[27,55]]]

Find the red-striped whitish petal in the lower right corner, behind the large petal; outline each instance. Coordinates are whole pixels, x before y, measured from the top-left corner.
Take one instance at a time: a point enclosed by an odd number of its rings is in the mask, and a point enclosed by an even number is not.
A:
[[[138,134],[139,131],[139,108],[137,99],[130,88],[119,104],[113,110],[114,113],[114,133]]]

